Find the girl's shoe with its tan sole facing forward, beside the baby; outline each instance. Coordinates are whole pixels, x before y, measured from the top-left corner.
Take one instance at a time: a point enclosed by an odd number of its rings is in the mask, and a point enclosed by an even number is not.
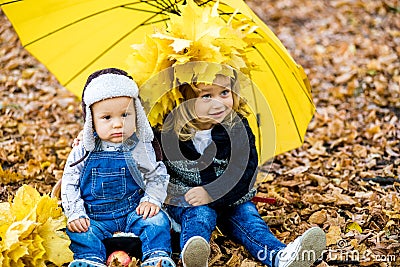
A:
[[[210,244],[201,236],[192,236],[182,249],[183,267],[207,267]]]

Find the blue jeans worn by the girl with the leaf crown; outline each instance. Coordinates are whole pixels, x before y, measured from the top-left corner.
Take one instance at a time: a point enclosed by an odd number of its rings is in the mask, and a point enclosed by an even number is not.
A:
[[[209,241],[216,225],[225,235],[242,244],[254,258],[267,266],[273,266],[278,251],[286,247],[272,234],[256,206],[250,201],[223,211],[215,211],[208,206],[168,206],[167,211],[181,224],[181,249],[192,236],[202,236]]]

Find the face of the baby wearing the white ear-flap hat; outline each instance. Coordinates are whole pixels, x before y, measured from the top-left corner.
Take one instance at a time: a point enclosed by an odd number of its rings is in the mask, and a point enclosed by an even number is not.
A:
[[[115,97],[92,105],[93,124],[103,141],[121,143],[136,131],[136,111],[130,97]]]

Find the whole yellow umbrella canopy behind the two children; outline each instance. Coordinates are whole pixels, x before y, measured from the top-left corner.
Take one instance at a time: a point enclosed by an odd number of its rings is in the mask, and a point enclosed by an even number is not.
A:
[[[59,82],[80,96],[94,71],[126,69],[131,45],[164,27],[169,14],[179,14],[184,0],[24,0],[2,1],[22,45]],[[199,6],[212,0],[196,0]],[[246,17],[264,42],[248,58],[258,66],[251,73],[256,89],[246,94],[253,112],[251,126],[261,160],[299,147],[314,114],[309,82],[272,31],[242,0],[220,0],[218,12],[228,20]]]

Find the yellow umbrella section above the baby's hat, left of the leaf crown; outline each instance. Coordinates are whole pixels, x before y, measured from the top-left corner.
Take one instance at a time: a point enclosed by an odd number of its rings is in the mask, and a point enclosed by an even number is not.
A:
[[[106,66],[126,68],[130,45],[138,41],[138,36],[149,33],[141,25],[151,22],[158,9],[140,2],[119,7],[129,3],[132,1],[27,0],[23,10],[18,8],[20,3],[3,9],[7,16],[16,18],[12,23],[17,33],[21,32],[25,48],[62,85],[80,96],[93,71]]]

